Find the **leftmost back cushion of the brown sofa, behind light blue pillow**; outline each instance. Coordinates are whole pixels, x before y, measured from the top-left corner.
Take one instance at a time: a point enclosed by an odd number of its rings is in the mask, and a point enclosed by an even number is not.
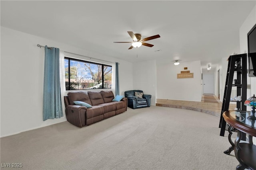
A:
[[[74,101],[81,101],[92,105],[88,92],[86,91],[68,92],[68,100],[70,104],[74,104]]]

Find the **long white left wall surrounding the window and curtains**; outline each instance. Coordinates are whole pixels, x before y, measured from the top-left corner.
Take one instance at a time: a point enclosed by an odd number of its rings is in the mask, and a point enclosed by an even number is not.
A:
[[[133,89],[132,72],[128,71],[132,63],[1,27],[1,137],[66,121],[65,117],[42,120],[44,48],[37,44],[119,62],[120,94]]]

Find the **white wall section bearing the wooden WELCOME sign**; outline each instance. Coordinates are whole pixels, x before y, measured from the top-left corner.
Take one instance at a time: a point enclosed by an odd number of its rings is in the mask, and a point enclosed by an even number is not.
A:
[[[180,71],[188,67],[194,78],[177,78]],[[188,100],[201,102],[201,64],[200,61],[180,63],[172,61],[157,62],[157,98],[170,100]]]

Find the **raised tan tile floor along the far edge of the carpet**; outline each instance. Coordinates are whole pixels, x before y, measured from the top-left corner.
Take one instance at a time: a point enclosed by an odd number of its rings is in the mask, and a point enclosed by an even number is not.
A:
[[[180,109],[188,109],[194,111],[200,111],[210,115],[220,117],[222,102],[214,96],[218,103],[207,103],[204,102],[204,95],[202,96],[201,102],[192,102],[184,100],[168,100],[168,99],[156,99],[156,106],[162,107],[174,107]],[[229,109],[234,110],[236,104],[230,104]]]

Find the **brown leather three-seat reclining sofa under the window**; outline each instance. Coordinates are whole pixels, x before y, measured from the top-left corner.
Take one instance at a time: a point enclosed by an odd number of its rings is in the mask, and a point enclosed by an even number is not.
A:
[[[77,127],[83,127],[127,111],[127,98],[120,102],[112,102],[113,99],[112,91],[68,92],[68,96],[64,96],[67,121]],[[92,107],[75,105],[74,101],[86,102]]]

